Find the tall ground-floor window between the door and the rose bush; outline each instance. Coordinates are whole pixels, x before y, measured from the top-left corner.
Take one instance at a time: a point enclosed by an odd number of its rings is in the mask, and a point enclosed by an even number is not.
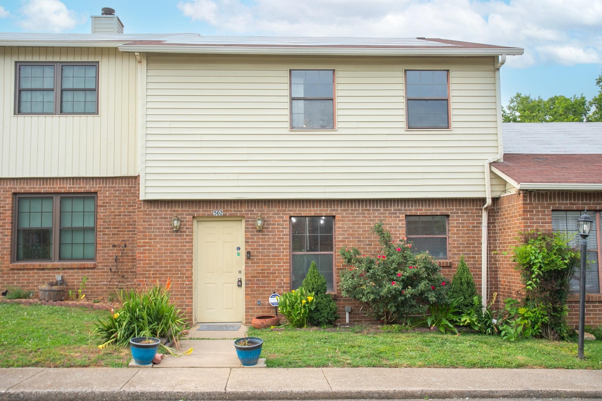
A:
[[[299,288],[314,261],[334,290],[334,217],[291,217],[291,289]]]

